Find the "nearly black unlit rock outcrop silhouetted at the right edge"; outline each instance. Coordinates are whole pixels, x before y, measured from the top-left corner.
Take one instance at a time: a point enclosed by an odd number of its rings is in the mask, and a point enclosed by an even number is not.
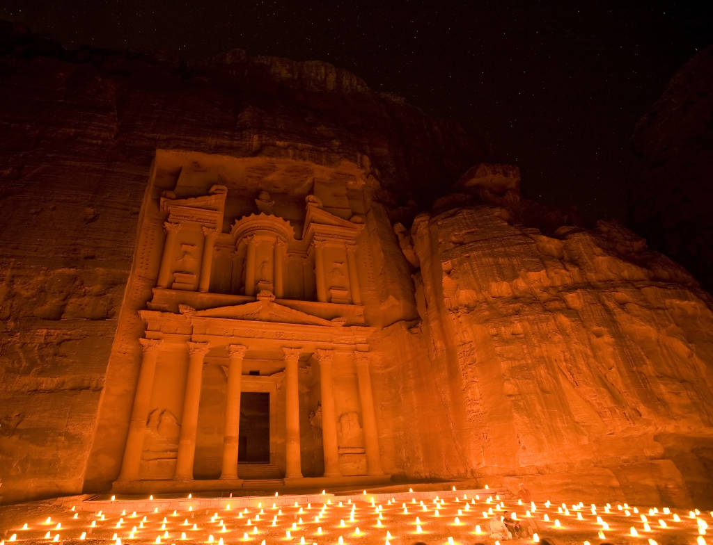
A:
[[[630,197],[630,224],[655,248],[713,289],[713,46],[674,75],[637,123],[640,179]]]

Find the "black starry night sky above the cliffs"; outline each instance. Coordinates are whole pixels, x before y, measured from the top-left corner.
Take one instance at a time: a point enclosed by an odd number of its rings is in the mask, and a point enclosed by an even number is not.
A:
[[[625,218],[635,122],[713,42],[713,2],[4,0],[68,48],[325,60],[485,137],[525,195]]]

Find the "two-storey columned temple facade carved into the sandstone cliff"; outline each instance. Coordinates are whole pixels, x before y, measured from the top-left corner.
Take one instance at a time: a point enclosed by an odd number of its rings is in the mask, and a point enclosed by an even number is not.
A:
[[[139,234],[135,269],[143,256],[156,275],[138,310],[113,490],[389,480],[357,266],[363,218],[312,193],[299,225],[264,190],[237,218],[225,185],[183,194],[160,191]]]

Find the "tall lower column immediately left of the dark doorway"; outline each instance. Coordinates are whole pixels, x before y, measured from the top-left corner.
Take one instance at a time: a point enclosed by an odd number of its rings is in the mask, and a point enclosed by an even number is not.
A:
[[[240,383],[242,359],[247,346],[230,344],[227,347],[230,364],[227,371],[227,403],[225,405],[225,435],[223,435],[223,465],[221,479],[237,479],[237,446],[240,431]]]

